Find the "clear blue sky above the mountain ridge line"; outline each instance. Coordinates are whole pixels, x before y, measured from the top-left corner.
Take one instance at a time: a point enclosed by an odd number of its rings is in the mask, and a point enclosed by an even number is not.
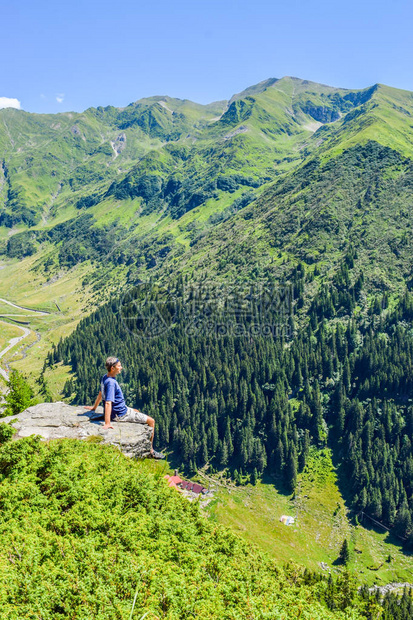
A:
[[[413,91],[406,1],[0,0],[0,16],[0,107],[208,103],[284,75]]]

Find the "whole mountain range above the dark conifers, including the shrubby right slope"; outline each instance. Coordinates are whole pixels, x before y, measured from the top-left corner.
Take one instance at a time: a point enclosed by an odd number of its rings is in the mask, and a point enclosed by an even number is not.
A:
[[[328,279],[351,245],[367,290],[397,291],[412,277],[412,114],[408,91],[291,77],[209,105],[0,110],[0,294],[60,308],[39,324],[45,354],[114,292],[177,272],[246,281],[303,261]]]

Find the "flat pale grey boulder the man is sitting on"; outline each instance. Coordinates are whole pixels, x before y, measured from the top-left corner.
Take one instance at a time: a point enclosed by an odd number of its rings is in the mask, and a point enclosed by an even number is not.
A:
[[[102,407],[97,412],[103,414]],[[136,458],[150,455],[151,429],[147,424],[113,422],[113,430],[103,429],[103,421],[93,419],[94,412],[66,403],[42,403],[29,407],[16,416],[2,418],[12,422],[17,429],[14,439],[40,435],[43,439],[86,439],[93,435],[102,437],[102,443],[119,446],[124,454]]]

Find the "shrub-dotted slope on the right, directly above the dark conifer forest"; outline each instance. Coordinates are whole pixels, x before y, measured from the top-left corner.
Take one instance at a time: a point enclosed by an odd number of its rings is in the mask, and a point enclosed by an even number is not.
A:
[[[371,287],[397,291],[413,267],[412,174],[411,159],[372,141],[328,160],[310,158],[200,234],[181,264],[247,279],[252,272],[279,277],[303,261],[328,276],[352,247]]]

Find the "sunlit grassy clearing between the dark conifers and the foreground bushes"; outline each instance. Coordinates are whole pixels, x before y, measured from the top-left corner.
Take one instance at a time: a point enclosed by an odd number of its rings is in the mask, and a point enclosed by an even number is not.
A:
[[[198,475],[209,484],[208,478]],[[277,561],[292,560],[310,570],[321,570],[324,564],[326,573],[339,574],[343,567],[338,557],[347,539],[348,566],[359,583],[412,581],[412,555],[403,551],[402,541],[367,518],[355,523],[340,493],[328,450],[313,451],[298,476],[294,495],[274,479],[255,486],[235,486],[225,478],[220,481],[222,486],[208,506],[210,518],[230,526]],[[281,523],[282,515],[295,517],[294,525]]]

